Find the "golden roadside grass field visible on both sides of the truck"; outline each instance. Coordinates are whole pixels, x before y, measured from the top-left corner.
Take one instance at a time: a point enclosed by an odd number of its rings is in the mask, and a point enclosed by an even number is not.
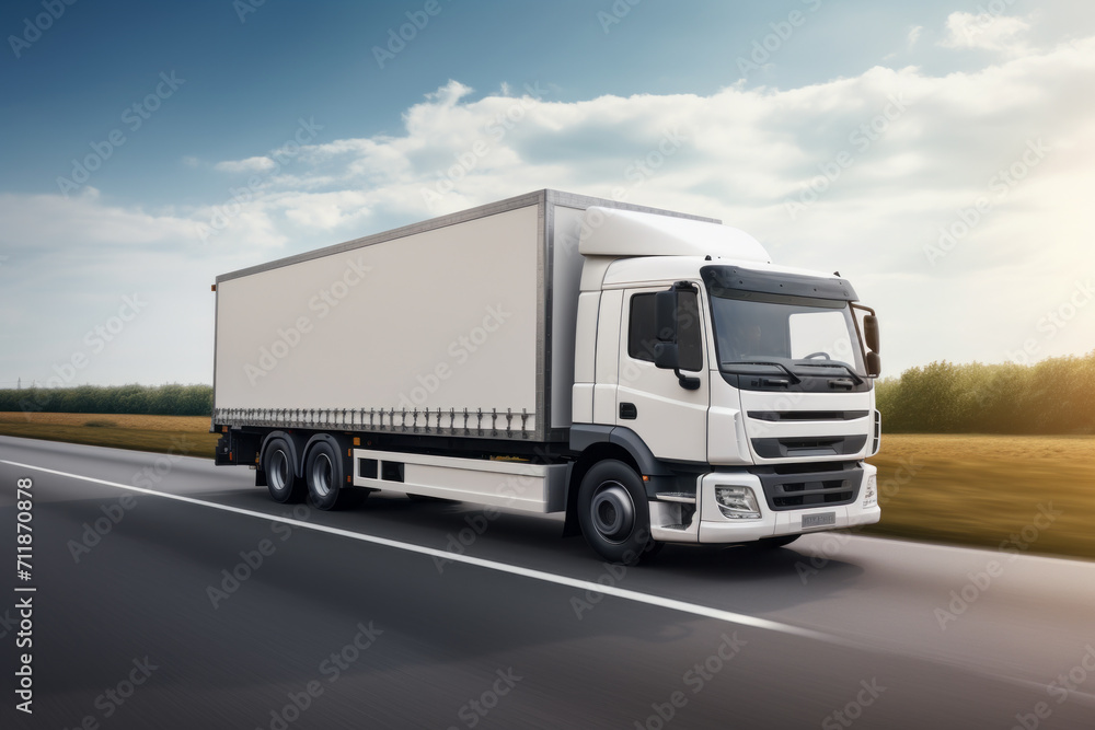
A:
[[[0,413],[0,434],[212,457],[209,419]],[[1095,436],[884,434],[864,534],[1095,558]]]

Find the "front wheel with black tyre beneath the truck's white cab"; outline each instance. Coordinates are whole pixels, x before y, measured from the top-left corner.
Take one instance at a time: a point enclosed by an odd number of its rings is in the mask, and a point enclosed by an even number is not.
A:
[[[578,487],[578,522],[589,546],[609,563],[635,565],[656,552],[646,489],[623,462],[603,461],[586,472]]]

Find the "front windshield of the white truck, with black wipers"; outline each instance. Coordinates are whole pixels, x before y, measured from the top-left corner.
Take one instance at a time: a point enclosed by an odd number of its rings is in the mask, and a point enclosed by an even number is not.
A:
[[[864,372],[845,301],[708,288],[719,367],[728,372],[789,368],[800,375]]]

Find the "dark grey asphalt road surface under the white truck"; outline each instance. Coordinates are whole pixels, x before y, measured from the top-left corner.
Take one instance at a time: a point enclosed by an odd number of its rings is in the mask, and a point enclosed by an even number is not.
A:
[[[624,570],[551,518],[385,494],[293,513],[252,484],[0,438],[0,727],[1095,727],[1095,564],[1036,542],[812,535]],[[14,692],[26,651],[33,715]]]

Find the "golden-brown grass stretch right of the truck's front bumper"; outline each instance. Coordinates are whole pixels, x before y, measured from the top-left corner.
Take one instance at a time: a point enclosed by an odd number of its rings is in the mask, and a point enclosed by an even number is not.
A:
[[[1095,558],[1095,437],[883,436],[866,534]]]

